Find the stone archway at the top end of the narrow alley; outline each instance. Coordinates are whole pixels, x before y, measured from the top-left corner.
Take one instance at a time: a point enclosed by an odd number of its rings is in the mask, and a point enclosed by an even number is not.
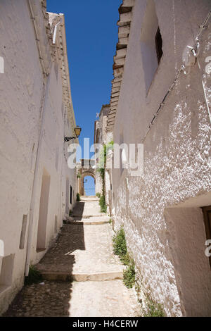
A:
[[[96,174],[94,168],[94,160],[84,160],[82,159],[80,163],[77,164],[77,180],[78,180],[78,193],[84,195],[84,177],[91,176],[94,178],[94,184],[96,183]]]

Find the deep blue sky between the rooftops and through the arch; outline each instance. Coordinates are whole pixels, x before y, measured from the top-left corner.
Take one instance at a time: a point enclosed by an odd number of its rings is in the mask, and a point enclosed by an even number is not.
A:
[[[47,11],[65,14],[72,102],[79,138],[94,142],[94,121],[103,104],[109,104],[118,8],[122,0],[47,0]],[[90,179],[88,179],[90,178]],[[87,187],[94,187],[87,177]]]

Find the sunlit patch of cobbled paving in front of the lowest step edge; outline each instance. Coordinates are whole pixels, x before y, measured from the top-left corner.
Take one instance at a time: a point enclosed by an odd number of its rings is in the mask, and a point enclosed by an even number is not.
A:
[[[106,282],[73,282],[70,317],[135,317],[140,316],[134,289],[122,280]]]

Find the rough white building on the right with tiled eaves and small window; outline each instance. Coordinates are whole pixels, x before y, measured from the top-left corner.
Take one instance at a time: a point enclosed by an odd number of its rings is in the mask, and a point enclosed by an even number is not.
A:
[[[210,1],[123,0],[108,131],[143,144],[143,175],[113,168],[113,218],[139,295],[167,316],[211,315]]]

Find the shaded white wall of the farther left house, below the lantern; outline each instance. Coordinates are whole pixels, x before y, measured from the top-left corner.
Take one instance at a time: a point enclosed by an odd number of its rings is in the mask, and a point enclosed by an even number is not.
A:
[[[55,71],[51,70],[51,82],[49,87],[49,95],[47,96],[46,109],[45,109],[45,118],[44,118],[44,137],[41,144],[41,157],[39,163],[39,184],[37,185],[37,195],[36,195],[36,206],[34,208],[34,220],[39,218],[39,196],[40,196],[40,187],[41,187],[41,177],[43,168],[48,170],[49,175],[51,175],[51,187],[49,194],[49,213],[47,221],[47,231],[46,231],[46,247],[49,247],[51,240],[55,236],[54,232],[54,219],[55,216],[58,216],[60,225],[62,225],[63,216],[60,213],[61,206],[61,196],[66,196],[66,185],[65,191],[62,191],[61,187],[61,175],[69,179],[68,187],[68,203],[69,209],[72,209],[75,204],[75,196],[72,196],[72,204],[70,204],[70,185],[72,189],[76,192],[76,175],[75,170],[70,170],[67,165],[69,154],[63,149],[63,139],[64,139],[64,118],[60,111],[62,105],[62,85],[60,80],[60,75],[58,75],[58,80],[56,79]],[[70,124],[66,121],[65,131],[70,132]],[[55,134],[57,132],[57,135]],[[59,157],[58,157],[58,169],[56,169],[56,144],[59,144]],[[68,149],[68,143],[65,144],[65,151]],[[62,165],[63,161],[63,165]],[[33,251],[32,263],[39,261],[43,253],[37,254],[37,226],[38,223],[34,223],[34,241],[33,241]],[[59,230],[59,229],[58,229]]]

